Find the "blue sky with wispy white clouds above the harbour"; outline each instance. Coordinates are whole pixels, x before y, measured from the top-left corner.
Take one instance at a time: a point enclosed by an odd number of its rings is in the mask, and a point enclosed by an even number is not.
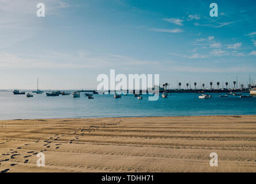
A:
[[[210,17],[212,2],[0,0],[0,89],[96,89],[110,69],[171,87],[255,79],[256,2],[214,1]]]

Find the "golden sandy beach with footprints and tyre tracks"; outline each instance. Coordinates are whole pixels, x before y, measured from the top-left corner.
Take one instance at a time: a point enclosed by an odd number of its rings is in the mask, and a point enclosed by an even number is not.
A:
[[[256,116],[0,121],[0,171],[256,172]]]

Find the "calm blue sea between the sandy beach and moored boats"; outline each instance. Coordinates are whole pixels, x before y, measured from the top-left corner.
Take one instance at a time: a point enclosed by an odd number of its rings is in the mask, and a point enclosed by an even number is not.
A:
[[[46,97],[46,94],[13,95],[12,91],[0,92],[0,120],[30,118],[82,118],[82,117],[146,117],[146,116],[204,116],[256,114],[256,97],[227,98],[213,95],[210,99],[198,99],[194,93],[172,93],[168,98],[148,101],[143,95],[138,100],[133,95],[114,98],[113,95],[94,94],[88,99],[71,95]],[[249,94],[244,94],[249,95]]]

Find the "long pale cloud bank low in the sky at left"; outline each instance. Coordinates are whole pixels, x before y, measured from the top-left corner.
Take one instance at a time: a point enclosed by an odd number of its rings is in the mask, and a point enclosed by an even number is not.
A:
[[[122,55],[91,56],[88,52],[76,55],[48,51],[43,56],[20,56],[12,53],[0,53],[0,68],[98,68],[116,66],[159,66],[153,60],[139,60]]]

